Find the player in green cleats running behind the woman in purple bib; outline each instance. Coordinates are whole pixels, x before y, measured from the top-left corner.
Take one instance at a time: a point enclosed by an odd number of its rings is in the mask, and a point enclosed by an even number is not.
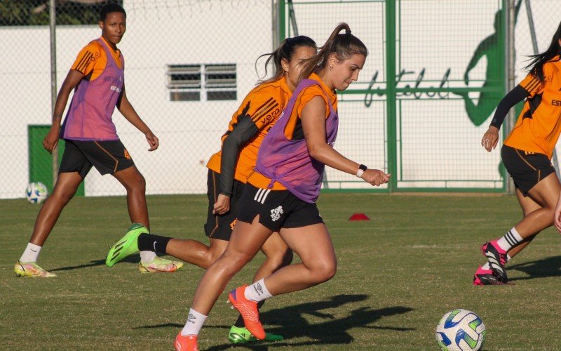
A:
[[[231,118],[228,131],[222,135],[222,149],[213,154],[207,164],[208,216],[204,227],[210,246],[191,239],[147,234],[147,230],[139,228],[111,247],[106,260],[109,267],[138,250],[167,253],[205,269],[222,256],[236,223],[241,194],[255,166],[259,146],[292,95],[302,72],[302,61],[316,55],[316,50],[315,41],[299,36],[285,39],[273,53],[265,54],[269,55],[265,69],[273,61],[273,77],[262,81],[243,99]],[[292,251],[277,233],[269,237],[262,251],[266,260],[255,273],[256,282],[292,262]],[[228,338],[232,343],[255,340],[245,329],[241,317],[231,326]],[[266,340],[282,340],[282,336],[267,333]]]

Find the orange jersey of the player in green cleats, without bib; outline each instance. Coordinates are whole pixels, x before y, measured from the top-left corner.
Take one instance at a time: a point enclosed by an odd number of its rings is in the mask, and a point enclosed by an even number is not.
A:
[[[238,110],[232,115],[228,131],[222,135],[222,142],[234,130],[234,126],[238,123],[238,117],[245,114],[250,116],[259,130],[257,135],[240,150],[234,173],[236,180],[243,183],[247,182],[249,174],[253,171],[253,167],[255,167],[259,146],[266,133],[269,132],[269,129],[277,121],[290,95],[292,95],[292,92],[288,88],[284,77],[271,83],[261,84],[250,91],[243,99]],[[221,157],[222,150],[213,154],[206,166],[212,169],[212,171],[220,173]]]

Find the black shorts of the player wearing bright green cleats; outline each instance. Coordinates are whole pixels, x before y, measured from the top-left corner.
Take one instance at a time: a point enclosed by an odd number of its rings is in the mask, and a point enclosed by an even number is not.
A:
[[[217,189],[219,180],[220,173],[209,169],[206,193],[208,196],[208,213],[205,223],[205,234],[211,239],[229,241],[232,230],[234,229],[234,224],[236,224],[236,217],[238,217],[240,198],[245,183],[234,179],[234,187],[230,197],[230,211],[223,215],[215,215],[212,213],[212,209],[214,209],[216,199],[220,193],[219,189]]]

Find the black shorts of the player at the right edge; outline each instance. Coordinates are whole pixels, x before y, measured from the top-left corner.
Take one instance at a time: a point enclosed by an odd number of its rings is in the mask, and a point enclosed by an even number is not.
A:
[[[527,152],[508,145],[501,148],[501,159],[514,180],[514,185],[522,194],[527,194],[534,185],[555,173],[550,159],[545,154]]]

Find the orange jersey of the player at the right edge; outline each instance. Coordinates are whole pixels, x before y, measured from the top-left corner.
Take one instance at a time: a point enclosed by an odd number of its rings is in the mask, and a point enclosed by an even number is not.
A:
[[[530,95],[504,144],[515,149],[553,154],[561,133],[561,61],[556,56],[543,65],[543,83],[528,74],[520,86]]]

